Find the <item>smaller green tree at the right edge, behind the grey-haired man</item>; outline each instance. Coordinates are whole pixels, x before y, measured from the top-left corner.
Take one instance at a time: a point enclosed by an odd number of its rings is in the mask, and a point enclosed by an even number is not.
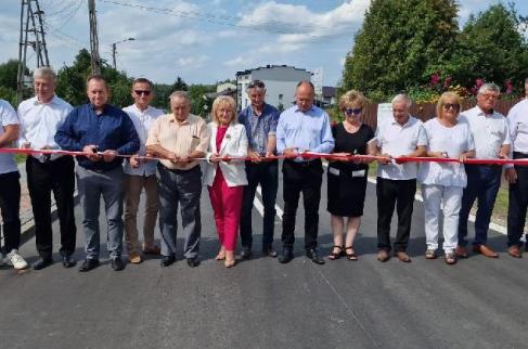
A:
[[[528,75],[528,48],[513,4],[493,4],[471,15],[465,24],[446,73],[462,86],[472,88],[482,78],[503,86],[511,79],[521,90]]]

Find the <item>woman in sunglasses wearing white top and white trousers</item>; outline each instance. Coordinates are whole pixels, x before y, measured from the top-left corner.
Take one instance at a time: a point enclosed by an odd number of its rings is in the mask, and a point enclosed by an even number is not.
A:
[[[437,104],[437,117],[424,124],[427,134],[427,156],[465,159],[475,156],[475,145],[466,122],[459,122],[460,96],[445,92]],[[454,264],[458,243],[459,211],[462,192],[467,185],[464,164],[422,163],[417,180],[424,197],[425,258],[437,258],[438,218],[443,203],[443,251],[446,262]]]

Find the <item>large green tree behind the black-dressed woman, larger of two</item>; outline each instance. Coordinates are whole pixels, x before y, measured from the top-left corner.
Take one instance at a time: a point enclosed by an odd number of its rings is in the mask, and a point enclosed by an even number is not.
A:
[[[373,0],[346,59],[339,94],[370,99],[420,86],[450,60],[459,31],[454,0]]]

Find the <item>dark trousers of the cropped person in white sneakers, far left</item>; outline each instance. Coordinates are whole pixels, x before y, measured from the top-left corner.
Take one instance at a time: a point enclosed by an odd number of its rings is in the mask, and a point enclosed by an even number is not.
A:
[[[21,174],[18,171],[0,174],[0,209],[3,220],[4,250],[10,253],[21,245]]]

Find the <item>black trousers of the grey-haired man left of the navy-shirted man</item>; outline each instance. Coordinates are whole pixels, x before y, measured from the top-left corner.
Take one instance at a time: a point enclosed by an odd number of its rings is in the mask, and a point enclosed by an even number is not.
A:
[[[35,218],[35,241],[42,258],[50,258],[53,249],[51,229],[51,192],[55,197],[61,230],[63,256],[75,251],[77,229],[74,216],[75,164],[70,156],[40,163],[33,156],[26,160],[27,186]]]

